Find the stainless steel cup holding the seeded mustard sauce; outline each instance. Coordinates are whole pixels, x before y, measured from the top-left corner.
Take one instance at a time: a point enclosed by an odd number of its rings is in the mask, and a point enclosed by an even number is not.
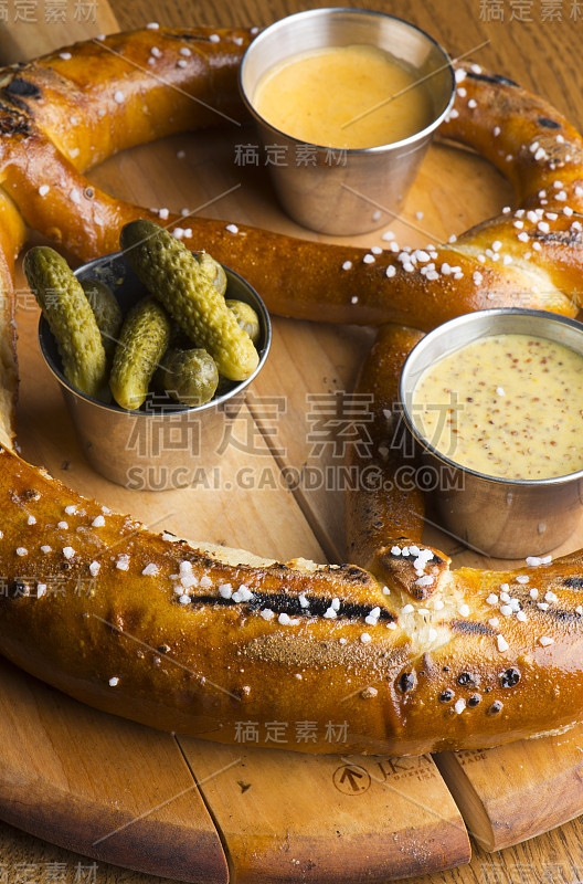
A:
[[[413,391],[425,369],[477,338],[499,334],[536,335],[583,356],[583,325],[574,319],[519,308],[470,313],[444,323],[411,351],[401,376],[400,400],[405,427],[422,452],[418,484],[433,486],[438,519],[446,530],[485,555],[524,558],[548,552],[574,530],[581,517],[583,470],[540,480],[488,476],[437,451],[412,417]]]

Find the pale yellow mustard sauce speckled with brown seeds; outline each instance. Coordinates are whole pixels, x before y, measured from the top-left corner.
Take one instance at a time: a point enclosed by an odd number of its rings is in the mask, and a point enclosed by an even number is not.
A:
[[[417,431],[463,466],[500,478],[583,469],[583,357],[530,335],[499,335],[444,357],[413,391]]]

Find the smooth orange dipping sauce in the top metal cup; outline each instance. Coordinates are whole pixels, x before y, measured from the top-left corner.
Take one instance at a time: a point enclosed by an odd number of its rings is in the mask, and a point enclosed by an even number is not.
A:
[[[374,147],[432,122],[431,95],[418,80],[377,46],[331,46],[273,67],[257,84],[253,104],[267,123],[306,144]]]

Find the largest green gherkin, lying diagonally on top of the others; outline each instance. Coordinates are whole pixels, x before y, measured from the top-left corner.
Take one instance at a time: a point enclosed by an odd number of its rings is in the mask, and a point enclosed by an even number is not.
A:
[[[186,245],[146,220],[126,224],[120,244],[148,291],[210,352],[220,373],[229,380],[248,378],[259,361],[257,350]]]

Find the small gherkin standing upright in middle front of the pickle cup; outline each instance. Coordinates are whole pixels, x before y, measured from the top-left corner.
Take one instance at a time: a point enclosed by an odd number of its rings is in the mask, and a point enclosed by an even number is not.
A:
[[[170,317],[153,297],[145,297],[124,320],[109,387],[117,404],[134,411],[144,404],[153,372],[168,349]]]

